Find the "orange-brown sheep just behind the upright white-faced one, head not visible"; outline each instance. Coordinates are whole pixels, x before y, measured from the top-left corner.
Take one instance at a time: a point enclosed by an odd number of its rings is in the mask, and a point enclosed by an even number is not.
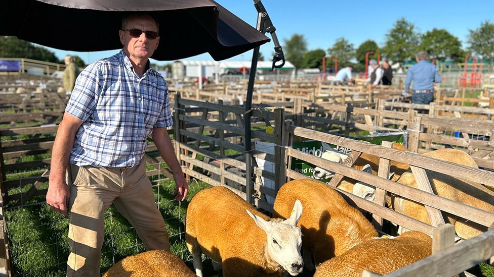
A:
[[[316,265],[346,252],[353,246],[377,237],[377,232],[356,208],[350,206],[333,188],[302,179],[284,184],[274,201],[275,217],[290,216],[292,204],[299,199],[305,212],[299,221],[304,237],[304,261],[310,268],[307,251]]]

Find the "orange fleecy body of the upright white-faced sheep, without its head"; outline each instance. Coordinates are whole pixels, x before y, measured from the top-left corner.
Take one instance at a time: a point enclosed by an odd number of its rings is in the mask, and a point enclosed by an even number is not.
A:
[[[262,250],[267,235],[245,210],[270,220],[225,187],[198,192],[187,208],[185,239],[189,251],[198,243],[204,254],[223,264],[224,274],[228,263],[228,268],[242,272],[242,276],[265,275]]]

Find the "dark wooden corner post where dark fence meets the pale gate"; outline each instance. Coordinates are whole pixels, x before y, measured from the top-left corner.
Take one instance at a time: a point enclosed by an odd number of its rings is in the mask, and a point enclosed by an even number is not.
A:
[[[285,122],[285,110],[282,108],[277,108],[274,110],[274,135],[275,135],[275,146],[274,146],[274,164],[275,164],[275,180],[274,180],[274,190],[278,193],[281,186],[286,183],[286,163],[285,163],[285,148],[287,146],[287,134],[284,130]],[[273,195],[276,197],[276,195]]]

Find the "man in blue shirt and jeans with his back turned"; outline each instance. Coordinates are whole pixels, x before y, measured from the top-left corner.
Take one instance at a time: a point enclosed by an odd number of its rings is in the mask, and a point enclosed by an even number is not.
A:
[[[434,101],[434,83],[441,82],[441,75],[435,65],[427,62],[429,57],[426,51],[417,54],[417,64],[406,73],[403,95],[408,96],[408,87],[413,81],[411,102],[415,104],[429,104]]]

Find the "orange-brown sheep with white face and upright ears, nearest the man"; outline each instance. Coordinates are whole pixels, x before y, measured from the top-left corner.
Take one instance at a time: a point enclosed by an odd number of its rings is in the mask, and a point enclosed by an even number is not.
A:
[[[295,203],[295,205],[294,205]],[[185,239],[202,275],[201,252],[221,265],[223,276],[281,276],[302,271],[300,201],[286,220],[270,218],[225,187],[198,192],[187,208]],[[252,218],[251,218],[252,217]]]

